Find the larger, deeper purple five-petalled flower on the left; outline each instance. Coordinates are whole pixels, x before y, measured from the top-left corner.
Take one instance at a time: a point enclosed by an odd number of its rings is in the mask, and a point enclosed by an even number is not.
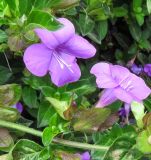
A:
[[[93,57],[96,49],[75,34],[75,28],[69,20],[59,18],[58,21],[64,26],[57,31],[35,29],[42,42],[25,50],[24,63],[32,74],[41,77],[49,72],[52,82],[63,86],[79,80],[81,76],[76,58]]]

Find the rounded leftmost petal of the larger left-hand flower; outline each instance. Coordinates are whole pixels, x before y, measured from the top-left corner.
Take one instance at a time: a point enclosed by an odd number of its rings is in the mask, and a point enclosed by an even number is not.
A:
[[[23,59],[27,69],[32,74],[41,77],[47,74],[51,50],[43,44],[33,44],[25,50]]]

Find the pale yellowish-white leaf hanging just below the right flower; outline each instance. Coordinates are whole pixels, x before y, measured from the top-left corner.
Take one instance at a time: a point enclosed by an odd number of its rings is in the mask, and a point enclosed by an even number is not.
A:
[[[144,109],[145,109],[145,107],[142,103],[138,103],[138,102],[131,103],[131,110],[134,114],[134,117],[137,122],[137,126],[139,128],[143,128],[143,126],[144,126],[144,124],[143,124],[143,117],[145,115]]]

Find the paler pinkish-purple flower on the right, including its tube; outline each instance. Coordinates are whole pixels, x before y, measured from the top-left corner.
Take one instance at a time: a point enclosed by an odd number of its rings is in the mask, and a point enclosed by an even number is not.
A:
[[[142,101],[151,93],[144,80],[125,67],[102,62],[95,64],[91,73],[96,76],[98,87],[105,89],[97,107],[108,105],[109,100],[110,104],[117,99],[128,104],[132,101]],[[107,103],[106,98],[102,97],[108,98]]]

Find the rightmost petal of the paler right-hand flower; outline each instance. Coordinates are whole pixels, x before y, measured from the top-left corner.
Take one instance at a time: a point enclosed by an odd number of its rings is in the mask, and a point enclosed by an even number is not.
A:
[[[131,89],[129,93],[140,101],[144,100],[151,94],[150,88],[145,84],[144,80],[134,74],[130,76]]]

